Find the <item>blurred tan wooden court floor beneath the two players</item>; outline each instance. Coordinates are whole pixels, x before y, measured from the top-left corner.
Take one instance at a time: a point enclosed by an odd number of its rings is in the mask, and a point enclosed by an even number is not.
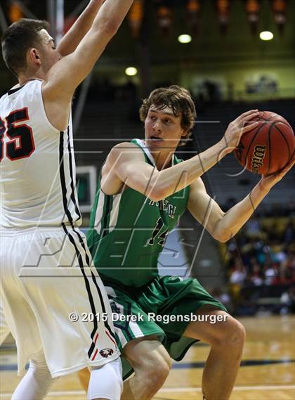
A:
[[[295,400],[294,316],[241,318],[240,321],[247,330],[247,342],[231,399]],[[181,363],[173,364],[155,400],[202,399],[202,366],[208,353],[209,347],[204,344],[192,347]],[[0,362],[0,399],[6,400],[11,398],[19,380],[15,370],[3,370],[13,369],[15,350],[1,349]],[[46,399],[82,400],[86,394],[73,374],[60,378]]]

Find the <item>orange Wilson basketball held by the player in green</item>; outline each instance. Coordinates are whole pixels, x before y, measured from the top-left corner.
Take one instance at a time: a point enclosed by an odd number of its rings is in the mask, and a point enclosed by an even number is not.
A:
[[[275,112],[262,111],[249,121],[259,124],[242,135],[235,157],[254,174],[273,174],[291,160],[295,150],[294,131],[289,122]]]

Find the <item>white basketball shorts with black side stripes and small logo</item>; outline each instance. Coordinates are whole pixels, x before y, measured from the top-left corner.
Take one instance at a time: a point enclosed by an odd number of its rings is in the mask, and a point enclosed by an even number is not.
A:
[[[110,303],[84,234],[65,225],[6,229],[0,240],[0,295],[18,375],[40,349],[53,378],[117,359]]]

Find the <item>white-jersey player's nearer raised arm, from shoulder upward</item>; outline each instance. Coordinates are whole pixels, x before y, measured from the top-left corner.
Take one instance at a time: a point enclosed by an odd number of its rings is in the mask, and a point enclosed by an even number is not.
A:
[[[44,84],[44,101],[70,101],[89,75],[105,46],[117,32],[133,0],[106,0],[77,49],[51,67]]]

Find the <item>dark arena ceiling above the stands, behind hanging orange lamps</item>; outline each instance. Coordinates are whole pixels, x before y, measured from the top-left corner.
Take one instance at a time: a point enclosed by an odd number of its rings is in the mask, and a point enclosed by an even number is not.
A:
[[[51,20],[53,6],[58,1],[64,4],[65,26],[69,26],[88,3],[88,0],[4,0],[0,4],[0,14],[2,11],[2,19],[10,23],[11,7],[17,4],[26,17]],[[265,58],[295,60],[295,0],[286,1],[282,30],[275,22],[272,10],[275,0],[135,0],[134,4],[140,2],[143,4],[140,29],[137,32],[131,29],[129,15],[107,46],[101,65],[136,65],[140,63],[143,51],[152,65],[239,60],[263,62]],[[199,5],[194,15],[188,12],[188,5],[193,3]],[[254,25],[249,22],[251,18],[247,12],[250,3],[259,6]],[[222,4],[228,8],[220,8]],[[138,14],[137,17],[133,15],[134,18],[138,18]],[[272,31],[274,39],[261,41],[261,30]],[[190,34],[191,43],[180,44],[180,34]],[[3,69],[4,65],[0,63],[0,71]]]

